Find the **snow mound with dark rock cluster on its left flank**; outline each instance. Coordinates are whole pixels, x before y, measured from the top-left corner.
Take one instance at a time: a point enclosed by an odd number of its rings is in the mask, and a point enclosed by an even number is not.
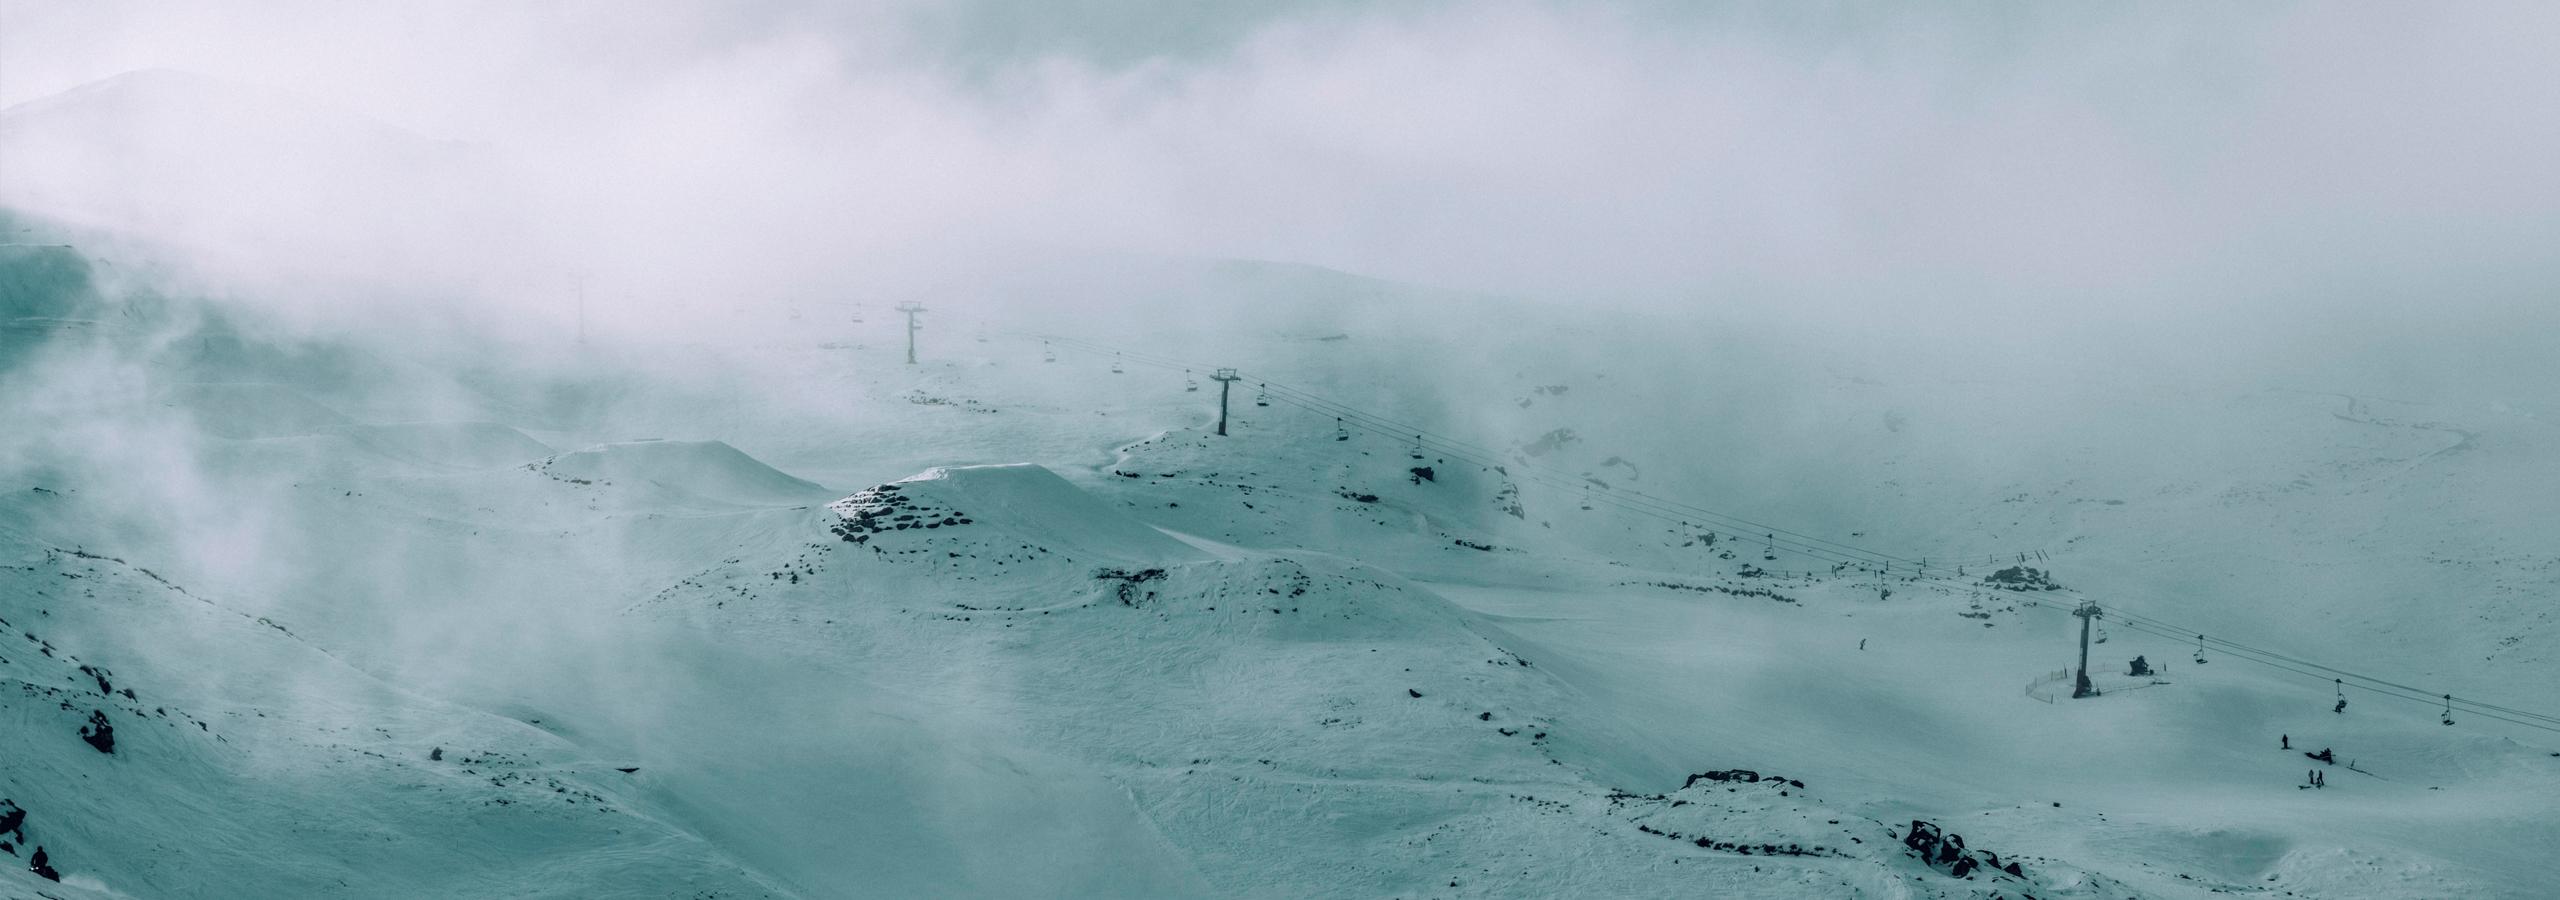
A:
[[[955,465],[835,501],[837,537],[914,542],[919,532],[993,527],[1042,555],[1183,562],[1203,552],[1157,532],[1039,465]],[[998,539],[998,537],[991,537]]]

